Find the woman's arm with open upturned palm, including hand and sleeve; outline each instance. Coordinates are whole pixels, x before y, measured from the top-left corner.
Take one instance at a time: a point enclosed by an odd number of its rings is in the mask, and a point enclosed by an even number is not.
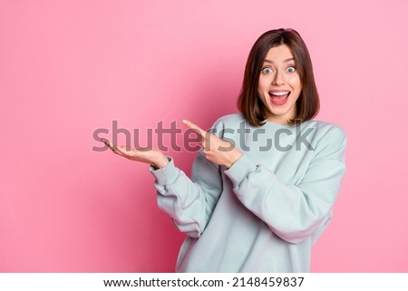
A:
[[[215,139],[215,136],[206,131],[196,132]],[[192,178],[189,179],[183,171],[175,167],[173,160],[167,159],[160,150],[117,146],[106,139],[102,139],[102,142],[115,154],[128,160],[151,164],[151,172],[156,178],[154,186],[158,191],[160,209],[173,218],[180,231],[193,238],[200,236],[222,192],[220,167],[204,157],[208,155],[205,149],[199,151],[193,163]],[[203,147],[210,144],[204,140],[201,143]],[[231,159],[223,160],[230,162]]]

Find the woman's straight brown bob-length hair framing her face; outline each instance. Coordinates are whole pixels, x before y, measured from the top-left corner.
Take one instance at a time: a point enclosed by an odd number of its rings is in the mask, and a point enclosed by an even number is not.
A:
[[[312,61],[302,37],[293,29],[270,30],[257,39],[249,52],[244,81],[238,96],[238,110],[253,126],[265,124],[265,120],[270,114],[258,97],[257,85],[267,52],[272,47],[281,44],[286,44],[291,50],[296,63],[296,72],[302,83],[302,92],[296,101],[296,117],[288,123],[298,124],[311,120],[319,111],[320,102],[313,75]]]

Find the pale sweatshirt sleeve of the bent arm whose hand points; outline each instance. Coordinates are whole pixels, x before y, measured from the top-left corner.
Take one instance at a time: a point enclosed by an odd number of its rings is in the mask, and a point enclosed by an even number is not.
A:
[[[316,144],[304,178],[281,182],[274,172],[243,155],[225,170],[242,204],[280,238],[299,243],[330,217],[345,173],[345,132],[334,127]]]

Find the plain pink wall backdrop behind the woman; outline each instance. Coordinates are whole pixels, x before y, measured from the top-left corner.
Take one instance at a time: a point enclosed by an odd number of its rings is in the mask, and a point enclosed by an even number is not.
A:
[[[92,132],[209,128],[237,112],[257,37],[293,27],[318,119],[349,141],[312,271],[407,272],[407,13],[403,0],[2,0],[0,271],[172,272],[183,235],[147,165],[92,151]],[[194,153],[169,154],[189,172]]]

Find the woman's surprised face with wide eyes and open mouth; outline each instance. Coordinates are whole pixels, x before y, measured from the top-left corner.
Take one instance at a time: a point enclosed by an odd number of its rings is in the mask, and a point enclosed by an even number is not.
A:
[[[257,94],[269,111],[267,121],[287,124],[296,116],[302,82],[293,54],[286,44],[272,47],[262,66]]]

